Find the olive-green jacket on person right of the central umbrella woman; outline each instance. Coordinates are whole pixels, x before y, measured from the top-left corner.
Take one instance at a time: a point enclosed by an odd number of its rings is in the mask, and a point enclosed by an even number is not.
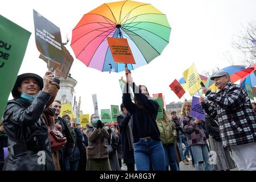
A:
[[[172,121],[165,122],[164,119],[157,119],[156,123],[159,127],[162,144],[173,144],[177,137],[175,124]]]

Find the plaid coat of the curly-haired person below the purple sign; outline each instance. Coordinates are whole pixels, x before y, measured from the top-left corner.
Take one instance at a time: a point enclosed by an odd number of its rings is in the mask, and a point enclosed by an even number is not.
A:
[[[202,123],[194,123],[193,117],[181,116],[181,126],[186,134],[186,139],[188,140],[189,146],[196,144],[207,144],[204,129],[202,128]]]

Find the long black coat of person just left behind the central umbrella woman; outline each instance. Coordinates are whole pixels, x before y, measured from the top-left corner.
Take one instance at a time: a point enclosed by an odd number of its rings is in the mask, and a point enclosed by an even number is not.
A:
[[[123,159],[125,164],[135,164],[134,151],[133,149],[130,150],[127,138],[127,127],[129,127],[128,123],[131,122],[130,120],[131,115],[129,113],[127,113],[125,116],[123,114],[120,114],[117,117],[117,123],[121,136],[121,143],[123,146]]]

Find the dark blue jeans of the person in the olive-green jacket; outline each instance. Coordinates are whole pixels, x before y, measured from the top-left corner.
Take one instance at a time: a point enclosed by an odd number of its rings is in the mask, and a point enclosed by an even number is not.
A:
[[[175,148],[174,144],[163,144],[164,147],[164,154],[165,154],[165,171],[169,171],[169,166],[170,166],[170,171],[180,171],[177,168],[176,164],[176,153],[175,153]]]

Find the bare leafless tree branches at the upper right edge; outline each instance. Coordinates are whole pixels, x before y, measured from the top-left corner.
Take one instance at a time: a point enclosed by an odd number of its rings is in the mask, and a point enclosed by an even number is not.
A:
[[[243,31],[237,40],[233,39],[233,47],[239,49],[243,53],[241,63],[245,65],[254,64],[256,61],[256,46],[253,40],[256,39],[256,22],[250,22],[247,27],[242,26]]]

